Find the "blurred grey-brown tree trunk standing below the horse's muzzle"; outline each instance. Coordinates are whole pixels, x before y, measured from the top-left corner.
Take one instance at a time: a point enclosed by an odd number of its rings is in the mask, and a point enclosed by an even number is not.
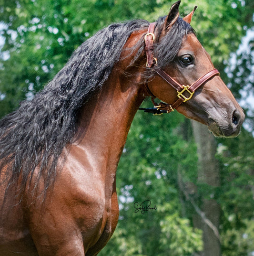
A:
[[[217,187],[220,185],[220,177],[218,161],[214,156],[217,148],[215,138],[207,127],[200,123],[192,121],[192,127],[198,153],[198,183]],[[220,241],[214,232],[214,229],[218,230],[219,228],[220,206],[213,199],[213,193],[210,195],[210,199],[203,198],[201,210],[205,214],[203,218],[198,214],[193,217],[194,226],[203,230],[204,247],[201,255],[220,256]],[[213,230],[205,224],[205,218],[212,222]]]

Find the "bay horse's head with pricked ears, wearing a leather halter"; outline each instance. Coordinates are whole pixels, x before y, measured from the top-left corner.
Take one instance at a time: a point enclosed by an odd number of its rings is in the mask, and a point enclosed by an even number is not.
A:
[[[163,101],[155,104],[158,109],[170,112],[176,108],[185,117],[207,125],[215,136],[237,136],[244,121],[243,109],[214,69],[211,57],[189,24],[196,7],[182,19],[179,4],[180,1],[173,4],[162,25],[158,21],[150,24],[145,36],[147,67],[152,72],[147,91],[152,98]],[[181,42],[173,40],[181,32]],[[176,54],[167,56],[167,51],[172,52],[177,43]]]

